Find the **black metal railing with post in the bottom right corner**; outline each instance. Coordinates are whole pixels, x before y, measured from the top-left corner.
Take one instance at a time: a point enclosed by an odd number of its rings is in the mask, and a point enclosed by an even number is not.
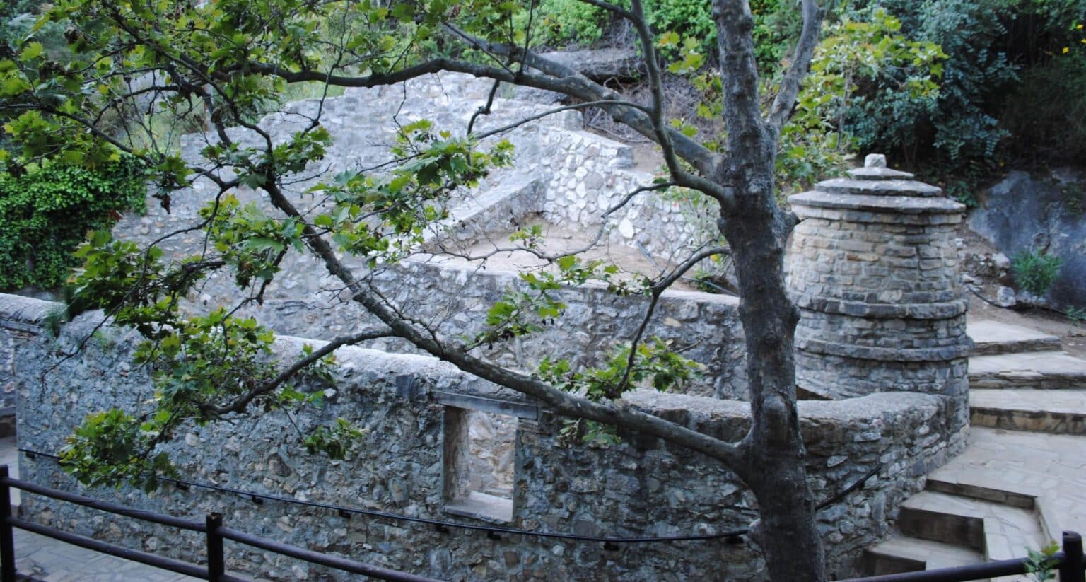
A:
[[[1083,566],[1083,537],[1077,532],[1063,532],[1063,551],[1053,554],[1044,561],[1048,570],[1059,572],[1060,582],[1086,582],[1086,570]],[[1001,575],[1025,574],[1030,572],[1030,558],[1023,557],[938,570],[853,578],[843,582],[969,582]]]

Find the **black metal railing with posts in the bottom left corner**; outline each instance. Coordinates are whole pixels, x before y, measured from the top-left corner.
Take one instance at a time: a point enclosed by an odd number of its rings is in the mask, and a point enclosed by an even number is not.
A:
[[[202,533],[204,534],[205,546],[207,549],[207,564],[206,566],[198,566],[187,561],[139,552],[128,547],[110,544],[55,528],[50,528],[48,526],[42,526],[40,523],[35,523],[33,521],[20,519],[11,513],[12,488],[34,493],[35,495],[42,495],[45,497],[81,505],[84,507],[91,507],[93,509],[138,519],[140,521],[149,521],[151,523],[159,523],[169,528]],[[387,568],[363,564],[339,556],[320,554],[318,552],[313,552],[302,547],[276,542],[275,540],[268,540],[266,537],[260,537],[242,531],[233,530],[223,524],[223,516],[219,514],[207,514],[205,520],[201,522],[125,507],[123,505],[94,499],[92,497],[85,497],[75,493],[58,491],[27,481],[20,481],[18,479],[10,477],[7,465],[0,465],[0,582],[15,582],[16,580],[15,528],[46,535],[54,540],[60,540],[61,542],[91,549],[93,552],[109,554],[111,556],[138,561],[140,564],[153,566],[163,570],[169,570],[172,572],[211,580],[214,582],[242,582],[245,580],[243,578],[226,573],[226,554],[223,544],[224,540],[230,540],[232,542],[258,547],[267,552],[290,556],[292,558],[305,560],[312,564],[319,564],[321,566],[327,566],[345,572],[365,574],[378,580],[435,582],[431,578],[415,575],[397,570],[389,570]]]

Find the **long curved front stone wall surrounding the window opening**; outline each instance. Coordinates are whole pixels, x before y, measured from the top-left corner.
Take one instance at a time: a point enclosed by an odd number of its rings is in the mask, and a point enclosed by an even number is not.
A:
[[[59,339],[35,327],[51,304],[0,295],[0,345],[16,350],[21,367],[9,376],[18,393],[20,446],[55,452],[89,412],[132,410],[150,395],[147,370],[131,365],[136,339],[105,326],[80,355],[63,358],[98,324],[86,314]],[[14,324],[15,326],[13,326]],[[279,338],[276,352],[296,354],[303,340]],[[365,446],[346,461],[305,456],[292,422],[276,414],[191,428],[171,444],[182,476],[245,491],[378,509],[406,516],[480,523],[446,515],[441,491],[443,402],[467,396],[505,401],[521,410],[515,453],[513,527],[532,531],[642,536],[710,533],[744,527],[752,496],[735,477],[700,455],[655,439],[626,434],[606,448],[565,446],[559,419],[516,393],[480,381],[432,358],[364,349],[338,352],[338,380],[327,406],[299,415],[302,430],[336,417],[369,430]],[[4,360],[12,354],[4,353]],[[323,387],[318,387],[323,388]],[[748,425],[746,403],[639,392],[632,405],[716,436],[737,439]],[[831,570],[851,573],[860,549],[887,531],[887,519],[926,472],[943,463],[945,398],[883,393],[842,402],[800,403],[816,495],[828,498],[872,467],[883,470],[863,489],[822,511]],[[532,419],[531,417],[535,418]],[[228,526],[353,559],[453,580],[760,580],[763,564],[746,544],[721,540],[623,544],[617,551],[520,535],[488,539],[481,532],[432,527],[265,502],[192,488],[154,493],[129,488],[84,490],[43,457],[21,458],[25,479],[150,510],[200,519],[220,511]],[[24,517],[98,539],[199,559],[202,541],[99,511],[23,497]],[[280,556],[228,544],[228,567],[283,580],[340,580]]]

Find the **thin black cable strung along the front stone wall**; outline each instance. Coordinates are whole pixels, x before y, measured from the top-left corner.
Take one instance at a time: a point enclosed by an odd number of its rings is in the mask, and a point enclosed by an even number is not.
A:
[[[51,459],[54,459],[54,460],[56,460],[56,459],[60,458],[59,456],[50,454],[50,453],[41,453],[41,452],[29,450],[29,448],[20,448],[18,451],[22,452],[22,453],[25,453],[30,458],[33,458],[34,456],[42,456],[42,457],[51,458]],[[871,469],[870,471],[868,471],[866,475],[863,475],[862,477],[860,477],[858,480],[856,480],[853,484],[850,484],[849,486],[845,488],[844,490],[842,490],[841,492],[838,492],[834,496],[832,496],[832,497],[828,498],[826,501],[822,502],[821,504],[819,504],[819,506],[817,507],[817,509],[818,510],[824,509],[824,508],[833,505],[834,503],[837,503],[838,501],[841,501],[842,498],[844,498],[846,495],[848,495],[853,491],[856,491],[857,489],[860,489],[861,486],[863,486],[863,484],[869,479],[871,479],[879,471],[881,471],[882,468],[883,468],[882,465],[879,465],[879,466],[874,467],[873,469]],[[429,519],[429,518],[424,518],[424,517],[413,517],[413,516],[405,516],[405,515],[402,515],[402,514],[391,514],[391,513],[388,513],[388,511],[379,511],[379,510],[376,510],[376,509],[362,509],[362,508],[357,508],[357,507],[345,507],[345,506],[342,506],[342,505],[334,505],[334,504],[330,504],[330,503],[303,501],[303,499],[298,499],[298,498],[294,498],[294,497],[287,497],[287,496],[282,496],[282,495],[272,495],[272,494],[268,494],[268,493],[256,493],[256,492],[252,492],[252,491],[244,491],[244,490],[233,489],[233,488],[228,488],[228,486],[223,486],[223,485],[215,485],[215,484],[211,484],[211,483],[200,483],[200,482],[197,482],[197,481],[187,481],[187,480],[184,480],[184,479],[174,479],[174,478],[171,478],[171,477],[157,477],[156,479],[159,479],[162,482],[172,483],[175,486],[178,486],[179,489],[199,488],[199,489],[205,489],[205,490],[211,490],[211,491],[217,491],[217,492],[220,492],[220,493],[230,493],[230,494],[233,494],[233,495],[238,495],[240,497],[248,497],[251,501],[254,501],[254,502],[257,502],[257,503],[261,503],[263,501],[273,501],[273,502],[279,502],[279,503],[286,503],[286,504],[292,504],[292,505],[301,505],[301,506],[304,506],[304,507],[315,507],[315,508],[320,508],[320,509],[329,509],[329,510],[339,513],[339,515],[342,516],[342,517],[348,517],[350,515],[359,515],[359,516],[376,517],[376,518],[381,518],[381,519],[389,519],[389,520],[394,520],[394,521],[407,521],[407,522],[414,522],[414,523],[424,523],[424,524],[427,524],[427,526],[433,526],[433,527],[438,528],[439,530],[444,530],[444,529],[460,529],[460,530],[483,531],[483,532],[487,532],[489,535],[496,535],[496,534],[526,535],[526,536],[530,536],[530,537],[550,537],[550,539],[557,539],[557,540],[570,540],[570,541],[576,541],[576,542],[595,542],[595,543],[604,543],[604,544],[636,544],[636,543],[697,542],[697,541],[706,541],[706,540],[735,539],[735,537],[738,537],[741,535],[745,535],[745,534],[749,533],[749,531],[750,531],[749,528],[736,528],[736,529],[727,530],[727,531],[717,532],[717,533],[700,533],[700,534],[686,534],[686,535],[657,535],[657,536],[637,536],[637,537],[608,537],[608,536],[599,536],[599,535],[580,535],[580,534],[576,534],[576,533],[541,532],[541,531],[521,530],[521,529],[517,529],[517,528],[502,528],[502,527],[497,527],[497,526],[481,526],[481,524],[475,524],[475,523],[460,523],[460,522],[456,522],[456,521],[444,521],[444,520],[439,520],[439,519]],[[201,527],[203,527],[203,524],[201,524]]]

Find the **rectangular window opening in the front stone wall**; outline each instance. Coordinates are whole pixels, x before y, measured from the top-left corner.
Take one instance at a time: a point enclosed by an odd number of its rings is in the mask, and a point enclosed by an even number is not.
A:
[[[517,418],[445,408],[445,510],[490,521],[513,521]]]

